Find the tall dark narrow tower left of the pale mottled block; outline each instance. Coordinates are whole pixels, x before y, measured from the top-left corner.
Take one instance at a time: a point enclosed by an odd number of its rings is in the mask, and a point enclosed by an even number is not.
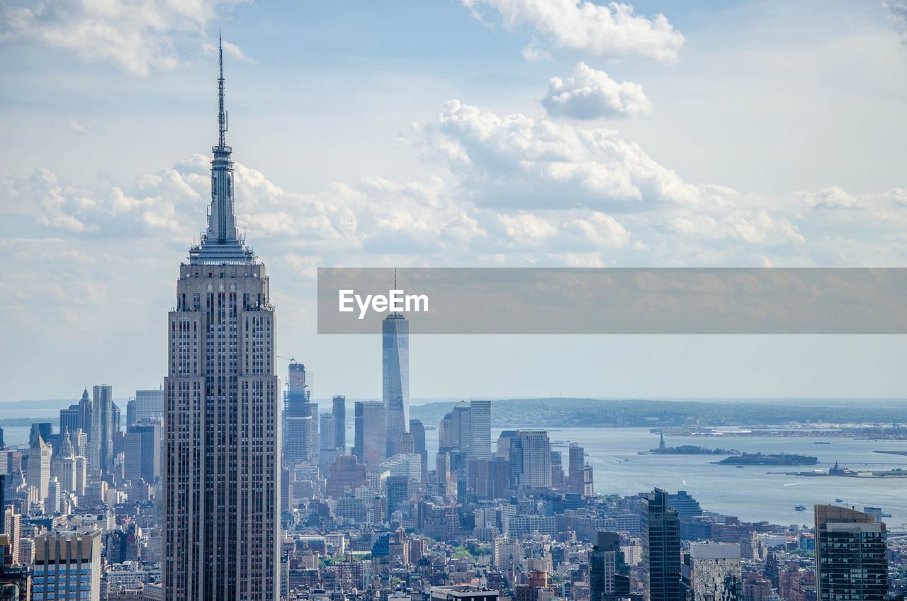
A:
[[[642,560],[647,601],[682,601],[680,518],[668,504],[668,492],[656,488],[642,501]]]

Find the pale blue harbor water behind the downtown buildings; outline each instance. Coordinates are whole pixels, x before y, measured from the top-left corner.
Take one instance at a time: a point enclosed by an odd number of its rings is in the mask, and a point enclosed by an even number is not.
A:
[[[6,444],[27,444],[27,427],[6,427]],[[502,432],[492,429],[492,440]],[[352,437],[352,430],[348,432]],[[878,450],[907,451],[907,440],[866,440],[829,437],[667,437],[668,446],[699,445],[707,448],[735,448],[766,454],[812,455],[815,466],[766,467],[716,465],[725,456],[639,455],[658,447],[658,435],[646,428],[561,428],[549,429],[551,449],[563,453],[567,471],[567,446],[576,442],[585,448],[586,460],[594,468],[597,493],[632,495],[666,488],[687,490],[707,511],[736,516],[745,521],[773,524],[812,525],[815,503],[834,503],[841,498],[847,506],[882,507],[892,530],[907,530],[907,478],[805,478],[768,472],[827,471],[834,462],[853,469],[907,469],[907,457],[880,454]],[[434,468],[438,447],[437,429],[425,432],[428,466]],[[816,444],[822,443],[822,444]],[[827,444],[826,444],[827,443]],[[866,466],[865,464],[873,464]],[[882,465],[884,464],[884,465]],[[797,511],[803,505],[805,511]]]

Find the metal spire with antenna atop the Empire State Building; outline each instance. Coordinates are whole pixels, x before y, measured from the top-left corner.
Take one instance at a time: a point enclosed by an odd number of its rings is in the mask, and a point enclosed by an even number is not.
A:
[[[228,114],[224,109],[224,51],[218,37],[220,76],[218,78],[218,144],[211,148],[211,203],[208,229],[201,244],[190,250],[190,261],[198,264],[237,264],[254,261],[255,257],[236,228],[233,199],[233,149],[227,145]]]

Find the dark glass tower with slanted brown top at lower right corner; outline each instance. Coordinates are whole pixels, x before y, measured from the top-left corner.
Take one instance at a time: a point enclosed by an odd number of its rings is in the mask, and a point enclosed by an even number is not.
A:
[[[837,505],[816,505],[814,513],[816,600],[888,598],[884,522]]]

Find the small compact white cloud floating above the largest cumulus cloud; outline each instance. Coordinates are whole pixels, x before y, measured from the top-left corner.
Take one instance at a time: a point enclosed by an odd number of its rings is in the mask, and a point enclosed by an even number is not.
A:
[[[541,103],[552,117],[573,119],[633,118],[652,112],[652,103],[641,85],[618,83],[581,61],[567,81],[551,78]]]

